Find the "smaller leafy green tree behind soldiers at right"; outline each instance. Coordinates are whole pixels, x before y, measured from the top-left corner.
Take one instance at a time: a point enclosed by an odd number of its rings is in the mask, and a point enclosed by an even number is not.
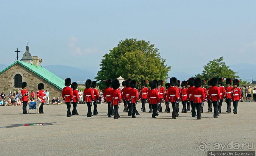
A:
[[[231,70],[229,66],[226,66],[223,60],[223,56],[221,56],[219,59],[213,59],[213,61],[210,61],[204,66],[203,73],[197,74],[195,77],[200,77],[206,80],[206,84],[207,81],[213,77],[223,78],[223,84],[226,84],[226,78],[239,78],[239,76],[236,75],[237,72]]]

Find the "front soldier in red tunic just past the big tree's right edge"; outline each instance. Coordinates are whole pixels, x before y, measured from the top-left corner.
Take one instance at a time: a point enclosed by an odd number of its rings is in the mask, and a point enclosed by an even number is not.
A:
[[[178,83],[177,81],[178,80],[175,77],[170,78],[171,87],[168,88],[168,93],[167,93],[168,101],[170,103],[172,103],[172,108],[173,108],[172,119],[176,119],[176,117],[175,117],[176,116],[175,115],[176,108],[175,107],[176,107],[177,103],[179,103],[179,91],[175,87],[176,84]]]

